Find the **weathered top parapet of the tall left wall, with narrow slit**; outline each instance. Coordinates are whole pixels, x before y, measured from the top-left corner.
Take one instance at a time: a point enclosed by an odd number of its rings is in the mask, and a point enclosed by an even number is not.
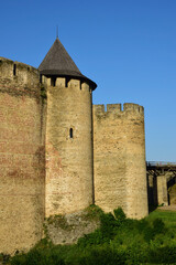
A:
[[[0,57],[0,82],[38,87],[40,73],[31,65]]]

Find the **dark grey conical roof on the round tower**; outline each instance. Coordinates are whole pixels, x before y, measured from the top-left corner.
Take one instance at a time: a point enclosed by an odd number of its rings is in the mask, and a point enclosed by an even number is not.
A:
[[[43,62],[38,66],[41,74],[46,76],[73,76],[79,80],[87,81],[92,89],[97,87],[96,83],[87,78],[80,73],[58,38],[55,40],[54,44],[47,52]]]

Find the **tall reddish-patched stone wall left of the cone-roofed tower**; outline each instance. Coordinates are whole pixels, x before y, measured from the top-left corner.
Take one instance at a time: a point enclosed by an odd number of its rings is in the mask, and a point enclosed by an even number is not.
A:
[[[15,64],[15,66],[14,66]],[[42,236],[44,142],[38,73],[0,57],[0,252]]]

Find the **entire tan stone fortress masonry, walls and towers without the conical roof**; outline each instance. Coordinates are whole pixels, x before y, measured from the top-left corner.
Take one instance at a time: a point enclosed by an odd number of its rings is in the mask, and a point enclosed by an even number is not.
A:
[[[143,107],[105,112],[92,89],[0,57],[0,252],[29,250],[45,216],[94,202],[147,214]]]

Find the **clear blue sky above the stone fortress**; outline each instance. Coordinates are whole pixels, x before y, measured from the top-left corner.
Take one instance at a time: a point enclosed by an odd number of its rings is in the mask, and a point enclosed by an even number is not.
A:
[[[176,161],[176,0],[1,0],[0,56],[37,67],[58,35],[95,104],[145,108],[146,159]]]

